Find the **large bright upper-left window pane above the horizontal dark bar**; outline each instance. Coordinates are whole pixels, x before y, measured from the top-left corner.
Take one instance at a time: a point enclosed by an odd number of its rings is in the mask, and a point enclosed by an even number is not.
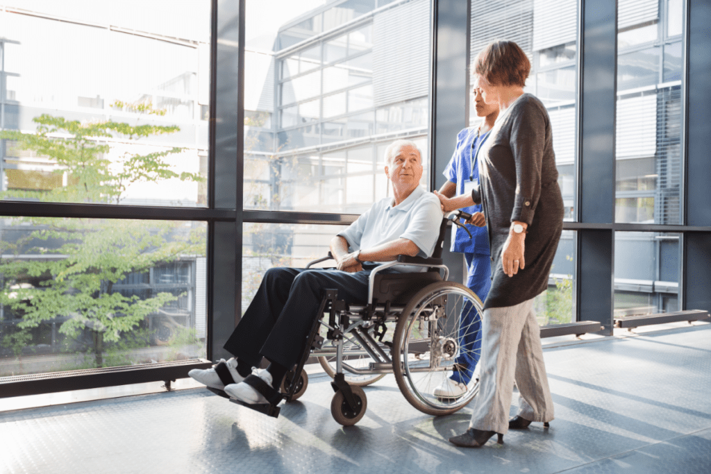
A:
[[[0,139],[14,141],[1,198],[206,206],[211,2],[148,2],[140,15],[90,0],[22,8],[37,14],[0,10],[11,101]]]

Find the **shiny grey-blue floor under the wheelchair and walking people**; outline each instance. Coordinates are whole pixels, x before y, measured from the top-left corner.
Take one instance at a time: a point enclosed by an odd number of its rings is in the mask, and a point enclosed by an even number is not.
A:
[[[391,375],[343,428],[314,377],[278,419],[204,389],[0,413],[0,473],[711,473],[711,325],[544,353],[556,419],[503,445],[451,445],[469,409],[421,414]]]

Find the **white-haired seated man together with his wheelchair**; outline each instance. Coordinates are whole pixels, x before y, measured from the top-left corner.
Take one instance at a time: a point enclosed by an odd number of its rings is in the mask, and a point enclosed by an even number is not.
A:
[[[397,140],[385,161],[394,197],[375,203],[333,237],[328,257],[316,262],[332,258],[336,268],[310,269],[311,262],[306,269],[269,269],[225,343],[235,357],[191,370],[193,379],[232,402],[278,416],[282,399],[306,390],[303,367],[316,355],[334,379],[331,413],[343,425],[365,414],[361,387],[387,373],[424,413],[448,414],[471,401],[476,380],[451,397],[443,387],[452,371],[465,370],[456,360],[471,345],[462,341],[478,336],[481,301],[466,286],[444,281],[448,271],[439,256],[447,220],[437,197],[419,187],[417,146]],[[392,328],[392,340],[383,341]],[[255,368],[262,357],[268,367]]]

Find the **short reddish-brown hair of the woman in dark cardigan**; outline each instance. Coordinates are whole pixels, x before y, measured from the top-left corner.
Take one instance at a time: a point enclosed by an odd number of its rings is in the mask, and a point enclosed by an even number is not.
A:
[[[525,87],[531,63],[519,45],[513,41],[492,41],[474,61],[474,73],[492,85]]]

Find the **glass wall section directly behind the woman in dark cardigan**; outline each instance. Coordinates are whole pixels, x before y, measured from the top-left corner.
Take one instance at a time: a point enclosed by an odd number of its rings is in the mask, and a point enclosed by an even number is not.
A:
[[[470,58],[490,41],[515,41],[528,55],[531,71],[525,92],[547,108],[553,132],[558,183],[565,203],[565,220],[574,220],[577,162],[577,0],[471,1]],[[471,97],[471,96],[470,96]],[[473,99],[472,99],[473,100]],[[469,107],[469,124],[481,119]],[[548,290],[535,307],[541,324],[574,321],[575,232],[565,231],[549,278]]]

